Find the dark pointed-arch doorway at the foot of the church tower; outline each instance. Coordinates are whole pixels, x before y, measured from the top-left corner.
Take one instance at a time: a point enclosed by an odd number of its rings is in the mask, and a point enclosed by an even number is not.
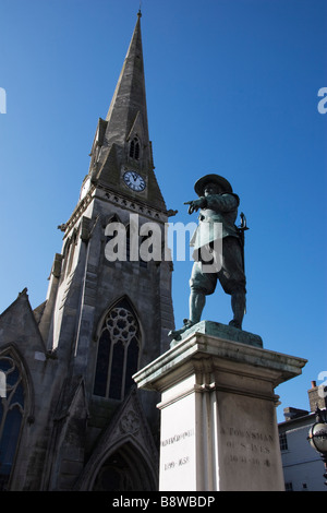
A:
[[[92,491],[155,491],[157,476],[131,442],[111,453],[99,466]]]

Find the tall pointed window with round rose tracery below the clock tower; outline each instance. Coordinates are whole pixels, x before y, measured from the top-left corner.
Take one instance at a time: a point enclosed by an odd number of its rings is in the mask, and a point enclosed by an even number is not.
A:
[[[137,371],[140,327],[133,309],[122,299],[108,312],[98,339],[95,395],[123,399]]]

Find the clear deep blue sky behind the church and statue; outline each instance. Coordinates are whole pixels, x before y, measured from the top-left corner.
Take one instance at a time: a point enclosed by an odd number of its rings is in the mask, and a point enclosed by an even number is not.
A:
[[[0,311],[24,287],[33,308],[88,171],[136,22],[138,0],[1,0]],[[327,373],[325,0],[143,0],[142,33],[156,175],[175,222],[207,172],[228,178],[247,217],[247,314],[266,349],[308,359],[277,387],[308,408]],[[191,262],[177,262],[177,324]],[[228,323],[229,297],[204,318]],[[325,378],[326,379],[326,378]]]

